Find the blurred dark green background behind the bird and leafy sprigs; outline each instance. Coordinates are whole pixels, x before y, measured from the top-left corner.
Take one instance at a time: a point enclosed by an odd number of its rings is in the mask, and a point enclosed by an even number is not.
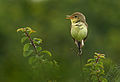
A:
[[[83,58],[100,52],[120,64],[119,0],[0,0],[0,82],[39,81],[31,80],[31,66],[22,56],[21,36],[16,32],[18,26],[37,31],[34,36],[43,39],[43,48],[61,64],[63,82],[77,82],[80,61],[75,55],[70,21],[65,19],[76,11],[86,16],[89,26]]]

